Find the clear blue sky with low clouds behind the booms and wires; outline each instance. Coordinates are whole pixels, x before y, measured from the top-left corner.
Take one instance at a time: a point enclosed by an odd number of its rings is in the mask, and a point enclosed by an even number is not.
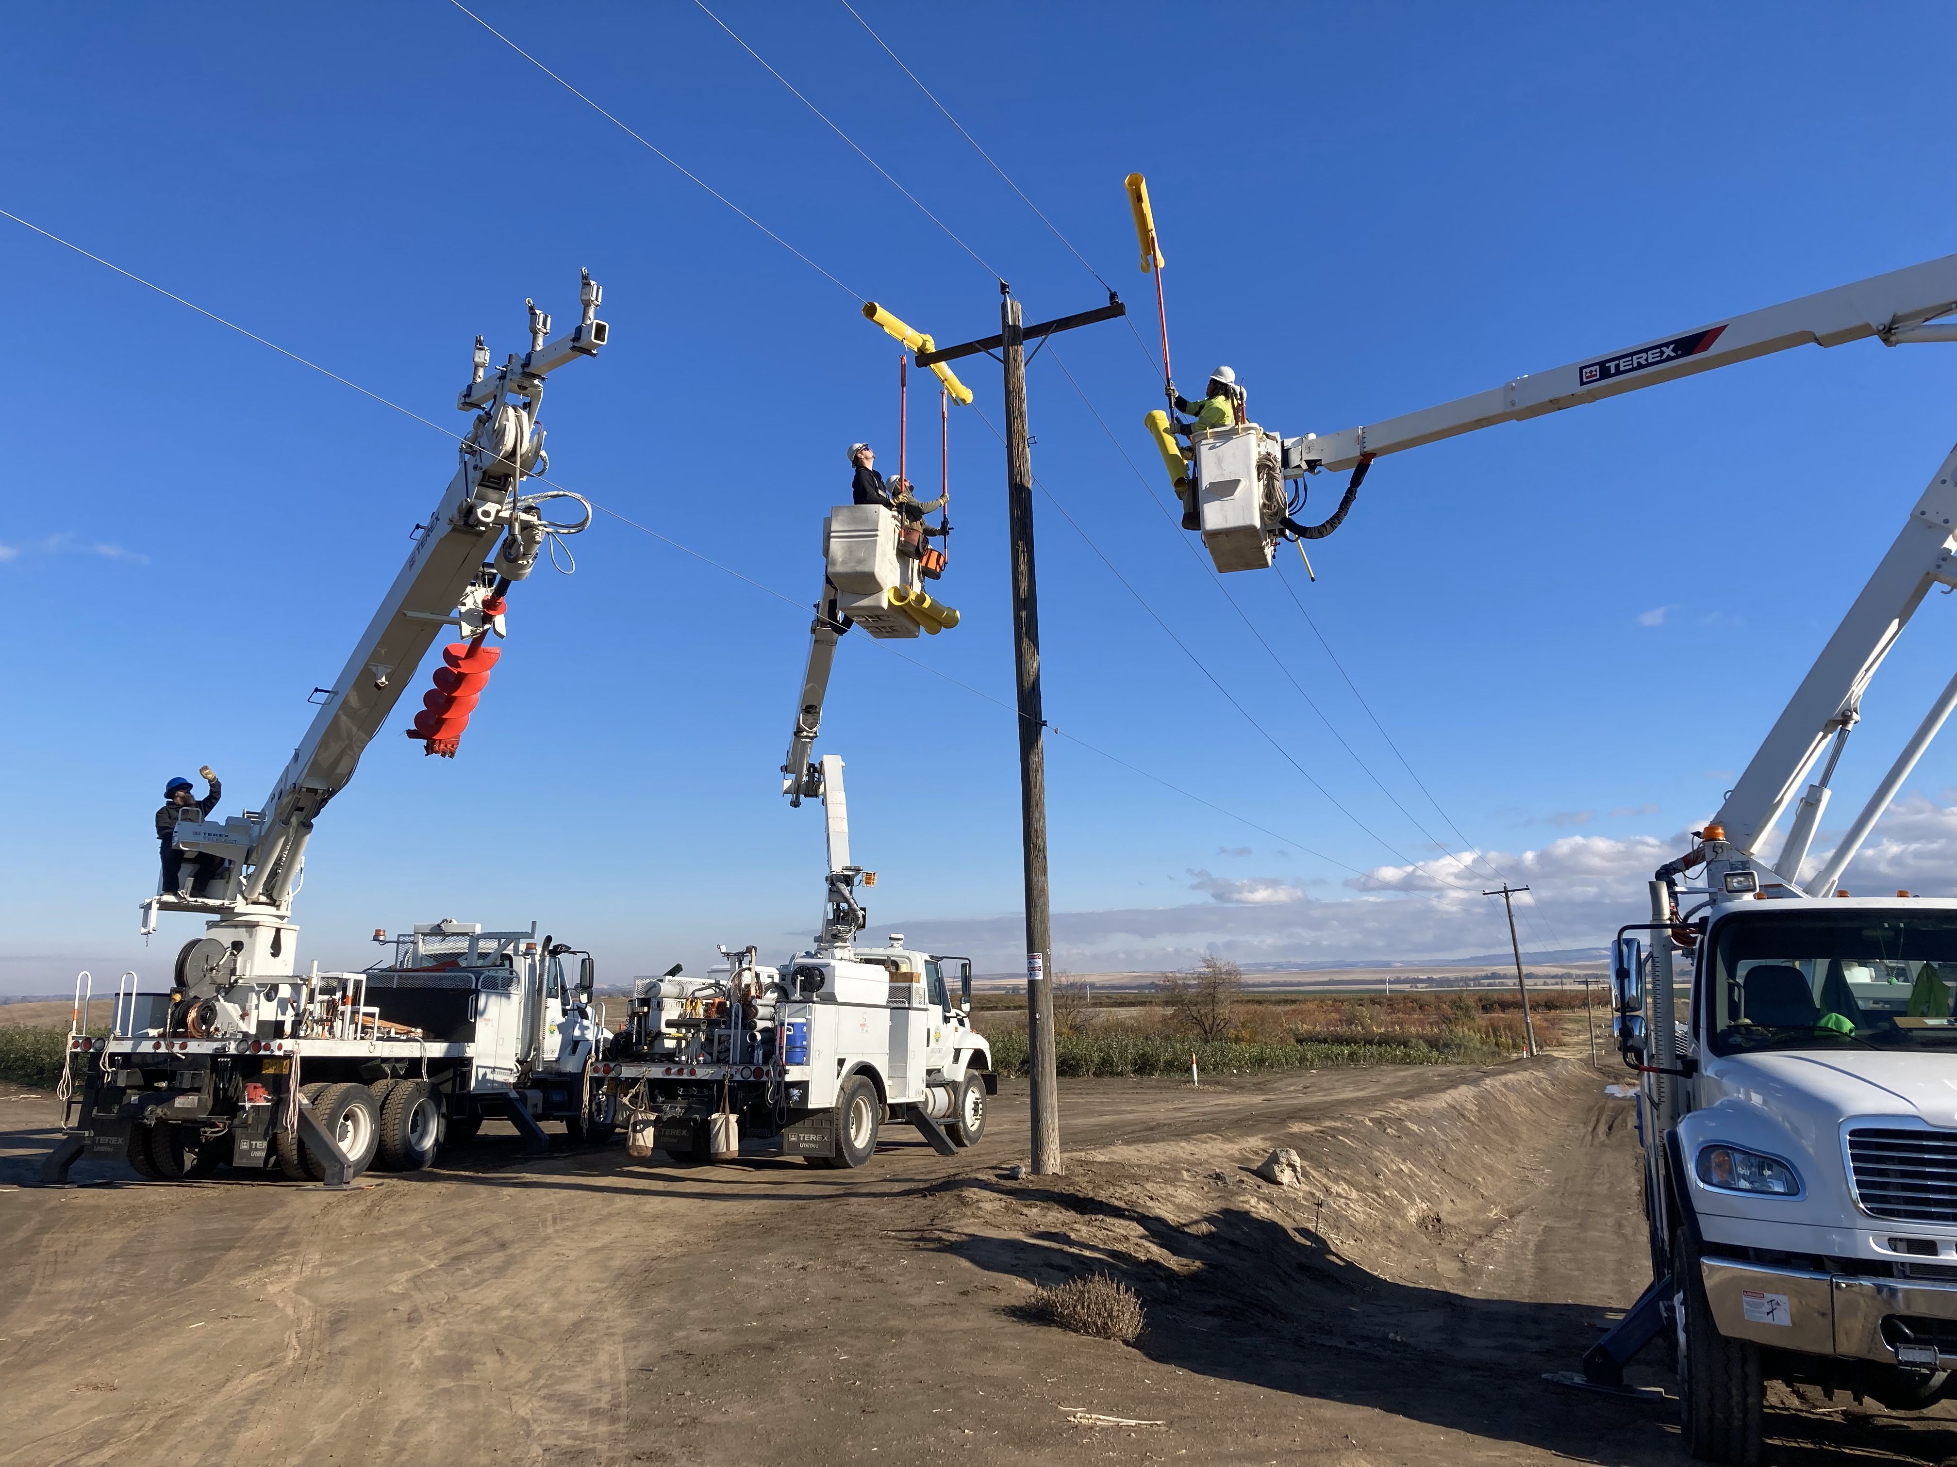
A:
[[[1935,88],[1881,80],[1951,61],[1947,8],[861,10],[1143,342],[1121,178],[1149,176],[1178,379],[1233,364],[1284,434],[1957,248]],[[1031,319],[1102,303],[842,6],[716,12]],[[458,430],[476,333],[501,360],[524,297],[564,321],[591,268],[613,346],[552,383],[554,477],[789,602],[601,518],[573,577],[513,597],[462,757],[395,730],[370,749],[313,841],[301,953],[364,960],[374,927],[444,915],[534,917],[611,974],[785,953],[822,896],[822,822],[775,792],[818,526],[851,440],[896,456],[896,350],[853,295],[953,340],[996,331],[996,282],[695,6],[479,14],[843,284],[434,0],[16,8],[0,207]],[[227,810],[264,798],[452,444],[4,219],[0,266],[0,743],[33,812],[0,988],[49,992],[82,964],[160,974],[196,931],[135,937],[162,780],[211,763]],[[1446,865],[1456,827],[1538,888],[1526,947],[1638,919],[1652,853],[1718,804],[1957,421],[1947,348],[1863,342],[1382,460],[1317,583],[1284,573],[1403,765],[1278,575],[1229,577],[1239,614],[1151,503],[1137,333],[1074,333],[1029,376],[1047,710],[1221,812],[1051,739],[1063,966],[1495,951],[1497,904],[1364,890],[1409,861],[1479,888]],[[875,927],[1006,968],[1004,466],[977,413],[951,426],[965,622],[916,663],[849,638],[822,747],[849,763]],[[1932,599],[1869,694],[1847,810],[1947,677],[1949,618]],[[1924,761],[1869,880],[1951,888],[1953,761]]]

